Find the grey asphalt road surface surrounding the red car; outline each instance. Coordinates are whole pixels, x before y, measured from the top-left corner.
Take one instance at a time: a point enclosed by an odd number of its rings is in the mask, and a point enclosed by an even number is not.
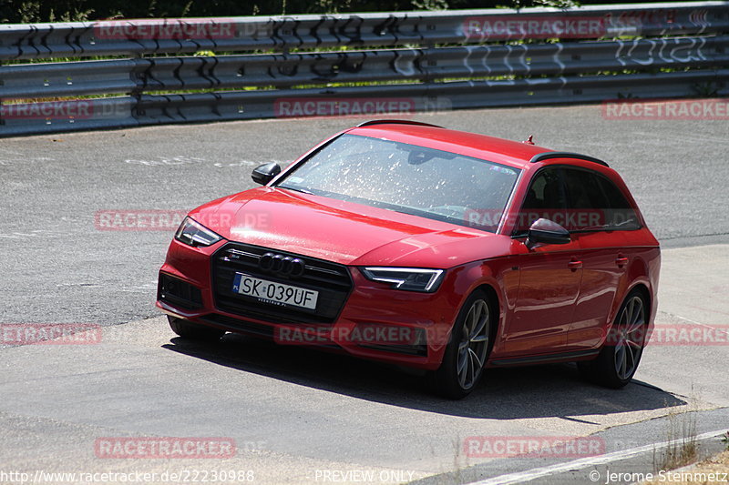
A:
[[[607,160],[662,241],[659,326],[725,332],[725,121],[606,120],[599,106],[415,118],[516,140],[534,135],[538,145]],[[236,470],[257,483],[498,483],[508,474],[586,483],[591,470],[654,468],[660,446],[611,453],[675,438],[677,423],[699,434],[729,428],[729,346],[720,342],[649,347],[635,382],[619,391],[585,384],[569,365],[494,369],[471,397],[451,402],[416,376],[370,362],[232,335],[217,345],[174,338],[153,307],[171,230],[103,230],[98,215],[185,211],[253,187],[253,167],[292,160],[359,121],[0,140],[0,323],[102,326],[95,345],[0,348],[0,483],[20,482],[3,472],[37,478],[38,470],[149,471],[159,473],[153,482],[180,482],[161,473],[183,469]],[[98,440],[131,436],[228,437],[237,448],[225,459],[99,458]],[[469,456],[463,443],[471,436],[590,436],[614,460]],[[702,450],[717,442],[706,438]]]

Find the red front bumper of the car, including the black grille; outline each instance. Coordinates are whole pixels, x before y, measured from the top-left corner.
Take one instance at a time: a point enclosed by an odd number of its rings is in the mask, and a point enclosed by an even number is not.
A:
[[[260,269],[250,263],[265,251],[303,258],[315,278],[287,280],[257,274]],[[232,292],[231,275],[236,271],[316,288],[320,301],[314,311],[298,311],[241,298]],[[173,239],[159,270],[157,307],[175,317],[272,338],[282,345],[334,349],[363,359],[437,369],[457,316],[449,283],[446,275],[435,293],[402,291],[364,278],[357,268],[279,249],[230,241],[192,248]]]

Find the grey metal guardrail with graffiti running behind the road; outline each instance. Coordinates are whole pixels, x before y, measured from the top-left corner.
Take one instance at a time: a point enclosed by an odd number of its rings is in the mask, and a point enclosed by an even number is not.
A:
[[[723,96],[727,34],[724,1],[0,25],[0,136]],[[546,39],[556,35],[560,42]],[[336,46],[346,50],[317,51]],[[207,50],[214,56],[181,56]],[[272,52],[221,54],[261,50]],[[126,58],[36,63],[64,56]],[[337,86],[347,83],[375,85]],[[126,96],[54,101],[98,95]]]

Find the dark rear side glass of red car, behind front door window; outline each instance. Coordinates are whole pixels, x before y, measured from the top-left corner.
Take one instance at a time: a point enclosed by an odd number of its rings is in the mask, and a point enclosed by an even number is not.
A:
[[[641,227],[621,190],[607,177],[580,168],[565,168],[570,231],[634,230]]]

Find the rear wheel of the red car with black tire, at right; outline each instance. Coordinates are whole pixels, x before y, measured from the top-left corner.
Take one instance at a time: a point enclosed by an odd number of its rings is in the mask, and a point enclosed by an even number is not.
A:
[[[594,360],[578,362],[580,374],[606,388],[621,389],[631,381],[641,362],[648,329],[648,303],[640,290],[632,290]]]

